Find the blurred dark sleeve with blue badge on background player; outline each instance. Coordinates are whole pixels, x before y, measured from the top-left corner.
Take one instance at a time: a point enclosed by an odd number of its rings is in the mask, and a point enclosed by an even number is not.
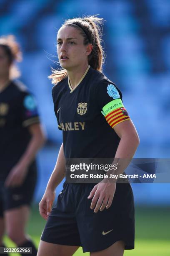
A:
[[[21,119],[24,127],[40,123],[35,97],[24,92],[21,97]]]

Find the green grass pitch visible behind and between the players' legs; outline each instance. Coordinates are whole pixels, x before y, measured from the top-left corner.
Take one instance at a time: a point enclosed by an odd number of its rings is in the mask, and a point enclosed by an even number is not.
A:
[[[30,216],[28,232],[38,246],[45,221],[34,206]],[[135,250],[126,250],[124,256],[169,256],[170,255],[170,208],[136,209]],[[5,237],[8,247],[15,245]],[[11,256],[19,256],[17,253]],[[89,256],[79,248],[74,256]]]

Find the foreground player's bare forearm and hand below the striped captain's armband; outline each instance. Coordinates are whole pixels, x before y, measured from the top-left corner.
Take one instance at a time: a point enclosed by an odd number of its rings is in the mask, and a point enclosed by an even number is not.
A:
[[[120,142],[112,165],[117,164],[118,162],[116,174],[119,175],[124,172],[130,163],[130,160],[133,158],[139,145],[139,137],[131,120],[126,120],[125,122],[115,125],[114,130],[120,137]],[[112,171],[107,172],[108,176],[110,176],[110,173],[112,173]],[[114,182],[103,180],[95,185],[88,197],[88,199],[93,197],[90,208],[95,208],[94,212],[97,212],[99,209],[102,211],[105,207],[108,209],[112,204],[115,189],[116,180],[114,180]]]

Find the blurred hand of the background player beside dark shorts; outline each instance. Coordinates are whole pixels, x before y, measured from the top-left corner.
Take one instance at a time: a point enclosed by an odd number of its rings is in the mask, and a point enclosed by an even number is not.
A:
[[[15,165],[8,174],[5,180],[6,187],[18,187],[23,184],[27,174],[27,166],[22,164]]]

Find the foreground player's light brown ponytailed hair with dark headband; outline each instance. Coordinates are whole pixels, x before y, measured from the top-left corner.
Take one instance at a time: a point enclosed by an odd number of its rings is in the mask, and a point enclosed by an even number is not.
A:
[[[102,72],[102,64],[104,63],[104,51],[101,45],[102,41],[102,18],[96,15],[85,16],[83,18],[72,18],[65,20],[61,26],[70,26],[76,28],[84,37],[84,45],[92,44],[92,52],[88,56],[88,64],[95,70]],[[57,84],[62,79],[67,77],[66,69],[52,69],[52,74],[49,76],[52,79],[52,84]]]

